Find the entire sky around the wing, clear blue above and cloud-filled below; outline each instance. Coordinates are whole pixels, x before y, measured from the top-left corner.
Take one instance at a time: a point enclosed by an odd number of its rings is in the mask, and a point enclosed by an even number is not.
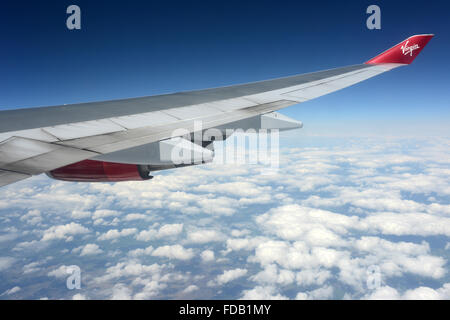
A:
[[[450,299],[448,3],[77,1],[68,31],[73,3],[0,4],[0,109],[312,72],[436,36],[411,66],[283,110],[305,126],[272,175],[1,188],[0,299]]]

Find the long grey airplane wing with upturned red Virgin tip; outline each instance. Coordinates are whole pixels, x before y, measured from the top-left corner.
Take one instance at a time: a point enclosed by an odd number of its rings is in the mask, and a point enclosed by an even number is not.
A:
[[[260,115],[270,118],[281,108],[408,65],[432,37],[412,36],[364,64],[285,78],[142,98],[0,111],[0,186],[86,159],[108,158],[121,150],[165,141],[176,129],[194,132],[196,121],[208,129]]]

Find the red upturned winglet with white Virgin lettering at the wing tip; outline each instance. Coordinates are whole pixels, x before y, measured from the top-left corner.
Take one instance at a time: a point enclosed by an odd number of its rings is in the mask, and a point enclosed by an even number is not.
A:
[[[399,44],[370,59],[366,64],[400,63],[410,64],[419,55],[434,34],[418,34],[403,40]]]

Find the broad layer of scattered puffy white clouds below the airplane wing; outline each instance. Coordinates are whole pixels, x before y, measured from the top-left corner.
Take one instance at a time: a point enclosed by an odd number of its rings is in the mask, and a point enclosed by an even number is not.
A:
[[[162,172],[143,183],[33,178],[0,190],[8,199],[0,200],[0,241],[13,242],[15,259],[4,273],[23,261],[25,274],[46,270],[66,278],[63,267],[47,270],[47,263],[60,266],[86,247],[100,250],[93,239],[113,240],[104,267],[83,268],[83,275],[104,288],[86,287],[89,298],[176,298],[190,286],[195,297],[210,298],[211,288],[202,286],[218,284],[221,266],[224,279],[223,266],[247,270],[236,283],[256,286],[235,298],[328,299],[333,288],[345,288],[344,297],[353,299],[443,298],[450,170],[448,140],[442,142],[431,149],[415,143],[413,152],[409,142],[398,141],[299,148],[281,154],[273,175],[261,175],[257,166],[207,165]],[[21,225],[14,230],[15,222]],[[44,239],[73,242],[61,247]],[[157,240],[155,248],[141,248],[137,239]],[[181,246],[192,243],[195,250]],[[187,270],[196,250],[199,261],[214,265]],[[157,257],[171,260],[144,263]],[[382,287],[374,291],[366,283],[371,266],[381,273]],[[420,287],[430,279],[442,287]],[[16,294],[26,296],[23,282],[8,282],[5,289],[15,285],[22,288]],[[60,298],[50,290],[45,295]],[[72,297],[67,292],[63,298]]]

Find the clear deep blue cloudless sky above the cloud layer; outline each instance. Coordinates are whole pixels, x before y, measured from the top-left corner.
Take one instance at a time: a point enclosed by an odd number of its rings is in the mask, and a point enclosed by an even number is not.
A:
[[[3,2],[0,108],[146,96],[357,64],[412,34],[436,37],[413,65],[284,112],[307,132],[448,134],[449,4],[378,1]]]

